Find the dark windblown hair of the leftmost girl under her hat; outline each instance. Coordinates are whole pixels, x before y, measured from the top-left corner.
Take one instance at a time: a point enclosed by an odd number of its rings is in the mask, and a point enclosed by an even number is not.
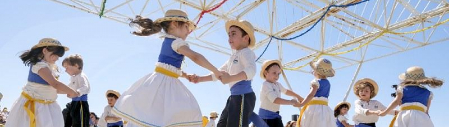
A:
[[[39,47],[31,50],[26,50],[22,55],[19,56],[22,59],[23,64],[26,66],[35,65],[38,61],[44,58],[44,54],[42,54],[42,50],[47,49],[49,52],[52,52],[52,55],[57,55],[59,57],[64,56],[66,50],[62,46],[45,46]]]

